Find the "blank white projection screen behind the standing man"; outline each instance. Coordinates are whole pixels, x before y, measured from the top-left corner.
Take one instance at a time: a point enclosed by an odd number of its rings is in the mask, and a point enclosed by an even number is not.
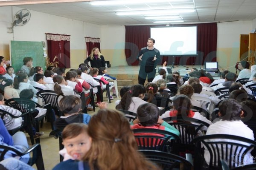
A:
[[[197,54],[197,26],[152,27],[150,34],[160,55]]]

